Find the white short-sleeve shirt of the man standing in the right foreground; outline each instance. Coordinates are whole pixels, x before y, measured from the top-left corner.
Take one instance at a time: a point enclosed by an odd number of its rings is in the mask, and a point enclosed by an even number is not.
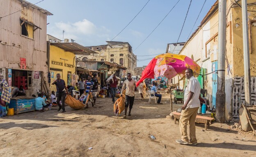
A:
[[[200,107],[200,100],[199,100],[200,90],[201,90],[201,86],[199,81],[194,76],[190,77],[190,79],[187,80],[187,86],[185,87],[184,104],[187,101],[189,92],[193,92],[194,94],[190,102],[188,102],[186,108]]]

